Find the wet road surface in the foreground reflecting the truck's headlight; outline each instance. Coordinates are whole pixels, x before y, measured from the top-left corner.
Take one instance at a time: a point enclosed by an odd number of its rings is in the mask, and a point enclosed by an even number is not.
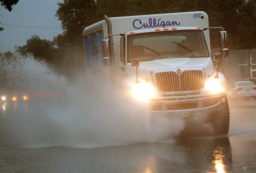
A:
[[[255,107],[254,100],[230,103],[228,136],[205,125],[156,143],[94,149],[22,149],[6,143],[2,131],[0,172],[255,172]]]

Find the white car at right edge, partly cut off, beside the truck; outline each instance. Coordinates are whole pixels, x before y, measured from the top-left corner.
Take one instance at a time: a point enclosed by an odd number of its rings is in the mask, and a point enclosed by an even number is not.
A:
[[[256,86],[251,81],[234,82],[229,89],[228,95],[233,99],[238,97],[256,99]]]

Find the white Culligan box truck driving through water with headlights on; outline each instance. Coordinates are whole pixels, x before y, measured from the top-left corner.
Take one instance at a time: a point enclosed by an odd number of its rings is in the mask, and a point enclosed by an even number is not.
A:
[[[220,30],[220,53],[212,58],[210,29]],[[82,34],[86,70],[133,83],[131,93],[154,116],[194,118],[211,123],[217,135],[228,133],[226,81],[218,71],[228,56],[227,32],[209,28],[205,12],[105,16]]]

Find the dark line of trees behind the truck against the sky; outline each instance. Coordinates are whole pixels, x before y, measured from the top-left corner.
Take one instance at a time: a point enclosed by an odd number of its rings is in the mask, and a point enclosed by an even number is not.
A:
[[[256,47],[256,0],[64,0],[56,11],[64,32],[53,41],[31,36],[16,50],[45,59],[59,73],[73,78],[84,69],[82,31],[103,20],[105,14],[115,17],[186,11],[205,11],[210,27],[228,31],[230,50]],[[210,37],[212,47],[218,47],[218,32],[211,32]]]

